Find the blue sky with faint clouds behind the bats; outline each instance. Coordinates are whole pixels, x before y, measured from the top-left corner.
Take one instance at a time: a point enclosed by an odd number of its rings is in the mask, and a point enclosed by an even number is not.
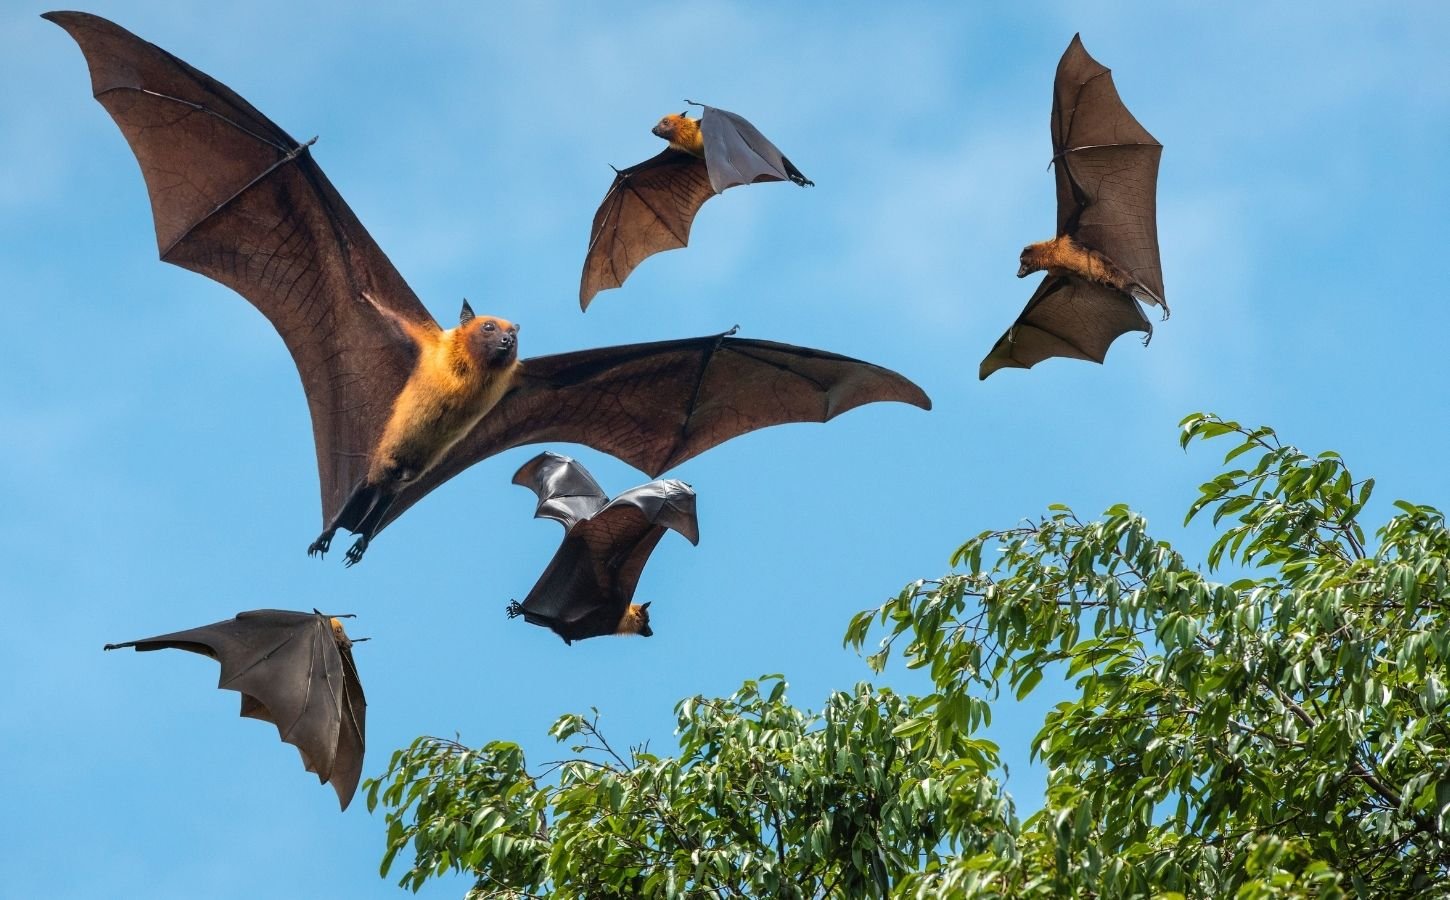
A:
[[[0,830],[14,896],[389,896],[381,816],[335,797],[181,652],[102,654],[255,607],[352,612],[367,775],[420,733],[521,742],[599,707],[673,746],[673,704],[782,671],[793,699],[869,677],[848,616],[947,570],[967,536],[1048,503],[1179,528],[1214,448],[1193,410],[1335,448],[1395,497],[1446,506],[1450,7],[1421,4],[531,4],[428,12],[262,0],[97,3],[249,99],[313,154],[434,314],[467,296],[523,355],[724,330],[916,380],[931,413],[870,406],[757,432],[673,470],[700,545],[645,570],[655,638],[564,646],[509,622],[558,545],[510,486],[539,448],[465,472],[344,570],[318,532],[306,406],[271,326],[157,262],[130,151],[80,52],[0,10]],[[829,12],[826,12],[829,10]],[[278,22],[293,22],[280,30]],[[976,368],[1051,235],[1047,117],[1074,32],[1163,142],[1173,317],[1108,365]],[[729,191],[689,249],[577,309],[608,164],[690,97],[745,114],[816,186]],[[1035,278],[1035,277],[1034,277]],[[610,493],[647,478],[584,448]],[[919,683],[892,670],[903,690]],[[1053,697],[998,710],[1009,790]],[[463,880],[423,891],[454,897]]]

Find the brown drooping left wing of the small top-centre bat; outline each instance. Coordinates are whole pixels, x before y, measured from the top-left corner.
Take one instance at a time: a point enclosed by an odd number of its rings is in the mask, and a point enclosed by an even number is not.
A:
[[[713,196],[705,161],[683,151],[666,149],[616,171],[589,232],[579,307],[624,284],[648,257],[689,243],[695,213]]]

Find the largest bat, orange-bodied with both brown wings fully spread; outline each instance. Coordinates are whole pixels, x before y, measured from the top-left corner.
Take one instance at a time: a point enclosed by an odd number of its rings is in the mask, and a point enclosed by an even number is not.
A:
[[[80,45],[96,99],[141,164],[161,259],[213,278],[271,320],[297,365],[318,452],[322,555],[347,564],[468,465],[541,441],[657,475],[750,430],[825,422],[877,400],[929,409],[889,370],[712,335],[518,358],[518,325],[442,329],[312,158],[225,84],[86,13],[46,13]]]

